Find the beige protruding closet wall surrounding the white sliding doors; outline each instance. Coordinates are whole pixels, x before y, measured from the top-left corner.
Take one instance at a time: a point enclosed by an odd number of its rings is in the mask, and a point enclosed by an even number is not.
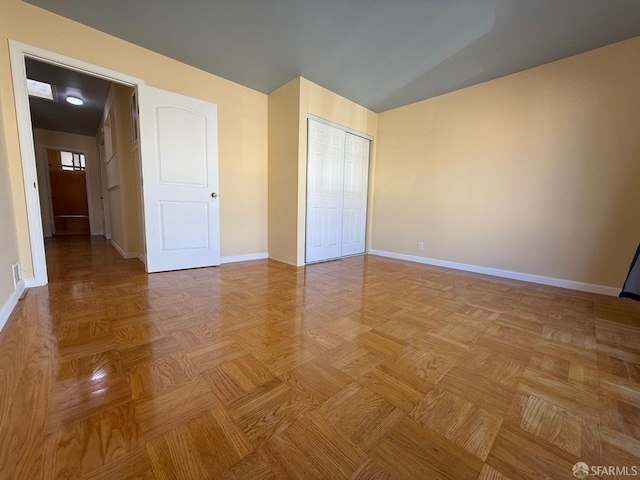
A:
[[[269,94],[269,256],[297,266],[305,254],[309,114],[372,137],[377,128],[374,112],[306,78]],[[373,171],[375,142],[371,159]]]

